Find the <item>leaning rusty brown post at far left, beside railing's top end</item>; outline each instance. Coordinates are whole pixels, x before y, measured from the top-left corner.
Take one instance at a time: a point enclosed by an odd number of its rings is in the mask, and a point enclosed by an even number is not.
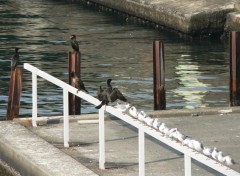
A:
[[[23,68],[17,67],[11,71],[6,120],[13,120],[19,117],[22,77]]]

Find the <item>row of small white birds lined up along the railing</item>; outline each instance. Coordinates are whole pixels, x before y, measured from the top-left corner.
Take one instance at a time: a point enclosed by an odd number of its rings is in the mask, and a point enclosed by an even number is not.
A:
[[[157,118],[151,118],[144,111],[138,112],[135,106],[130,106],[130,104],[117,104],[115,108],[121,112],[127,112],[128,110],[128,113],[133,118],[138,119],[140,122],[145,123],[155,130],[158,130],[162,135],[180,142],[183,146],[188,146],[197,152],[202,152],[204,155],[211,157],[222,164],[235,164],[234,160],[229,155],[225,156],[223,152],[218,151],[216,147],[204,147],[201,142],[184,135],[177,128],[168,128],[165,123],[160,122]]]

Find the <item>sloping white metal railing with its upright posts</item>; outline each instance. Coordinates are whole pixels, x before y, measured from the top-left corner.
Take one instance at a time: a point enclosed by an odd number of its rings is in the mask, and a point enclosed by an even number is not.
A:
[[[30,72],[32,72],[32,125],[37,126],[37,76],[40,76],[49,82],[61,87],[63,89],[63,116],[64,116],[64,147],[69,147],[69,109],[68,109],[68,92],[88,101],[93,105],[99,105],[100,101],[91,95],[79,91],[77,93],[77,89],[70,86],[69,84],[43,72],[36,67],[25,63],[24,68]],[[123,114],[118,111],[114,107],[104,106],[99,110],[99,168],[105,169],[105,128],[104,128],[104,112],[108,112],[119,119],[127,122],[128,124],[136,127],[138,129],[138,147],[139,147],[139,176],[145,175],[145,133],[154,137],[155,139],[161,141],[162,143],[168,145],[169,147],[181,152],[184,154],[184,167],[185,167],[185,176],[191,175],[191,159],[195,159],[196,161],[210,167],[222,174],[229,176],[240,176],[240,173],[234,171],[233,169],[224,166],[215,160],[193,151],[187,146],[183,146],[180,143],[173,141],[169,138],[166,138],[161,135],[160,132],[154,130],[153,128],[144,125],[137,119],[132,118],[127,114]]]

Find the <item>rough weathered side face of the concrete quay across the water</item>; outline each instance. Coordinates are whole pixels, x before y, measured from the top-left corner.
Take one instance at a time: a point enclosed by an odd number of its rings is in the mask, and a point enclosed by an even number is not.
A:
[[[81,0],[84,1],[84,0]],[[200,11],[195,14],[184,14],[167,6],[155,6],[147,2],[135,2],[126,0],[90,0],[114,10],[136,16],[150,22],[159,24],[167,29],[190,36],[208,35],[211,33],[224,32],[226,15],[234,12],[238,7],[235,3],[212,9]],[[205,20],[208,18],[208,20]]]

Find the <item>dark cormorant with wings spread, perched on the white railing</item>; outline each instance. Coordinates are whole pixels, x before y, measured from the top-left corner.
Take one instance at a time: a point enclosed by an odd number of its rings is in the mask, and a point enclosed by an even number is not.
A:
[[[117,88],[112,88],[111,86],[112,79],[107,80],[107,88],[102,89],[102,87],[99,87],[98,90],[98,99],[101,101],[101,103],[96,106],[96,109],[100,109],[103,105],[108,105],[109,102],[114,102],[117,99],[122,100],[124,102],[127,101],[127,99],[123,96],[123,94],[118,90]]]

